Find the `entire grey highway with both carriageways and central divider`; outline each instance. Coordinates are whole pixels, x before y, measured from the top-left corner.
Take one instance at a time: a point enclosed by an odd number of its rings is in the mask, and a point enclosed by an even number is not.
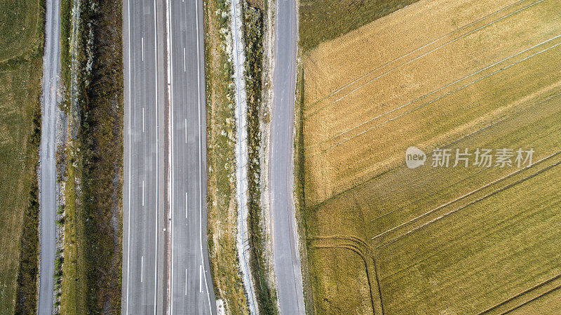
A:
[[[206,247],[202,5],[123,5],[122,314],[215,314]]]

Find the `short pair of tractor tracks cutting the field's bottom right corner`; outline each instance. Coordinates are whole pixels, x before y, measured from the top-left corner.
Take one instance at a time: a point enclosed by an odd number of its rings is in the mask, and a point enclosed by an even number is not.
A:
[[[551,293],[560,288],[561,288],[561,274],[558,274],[557,276],[554,276],[553,278],[550,278],[542,283],[539,283],[536,286],[533,286],[532,288],[524,290],[521,293],[514,295],[513,297],[509,297],[508,299],[499,302],[499,304],[489,307],[489,309],[485,309],[485,311],[481,311],[480,313],[478,313],[478,315],[508,314],[511,311],[514,311],[515,309],[518,309],[524,306],[525,304],[528,304],[529,302],[538,300],[540,297],[543,297],[543,295],[547,295],[548,293]],[[532,296],[533,293],[537,293],[537,295]],[[528,300],[525,300],[526,297],[528,298]],[[511,305],[511,304],[515,304],[515,305]]]

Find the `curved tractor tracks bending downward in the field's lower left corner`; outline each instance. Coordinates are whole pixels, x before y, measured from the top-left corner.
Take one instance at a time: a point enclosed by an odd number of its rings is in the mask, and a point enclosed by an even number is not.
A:
[[[347,249],[356,253],[365,264],[373,314],[384,315],[384,304],[381,300],[380,282],[374,252],[365,241],[356,236],[314,236],[308,238],[308,241],[313,242],[311,245],[313,249]],[[327,243],[328,241],[336,241],[337,243]]]

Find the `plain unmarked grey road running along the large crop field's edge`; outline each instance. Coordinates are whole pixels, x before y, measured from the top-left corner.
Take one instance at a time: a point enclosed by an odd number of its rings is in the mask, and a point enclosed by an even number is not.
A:
[[[297,11],[294,0],[277,0],[275,6],[269,198],[280,314],[293,315],[304,314],[302,269],[297,248],[295,209],[292,203]]]

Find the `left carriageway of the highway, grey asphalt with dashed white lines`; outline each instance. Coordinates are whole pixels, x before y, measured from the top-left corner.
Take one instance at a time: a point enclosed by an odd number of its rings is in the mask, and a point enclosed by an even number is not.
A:
[[[123,1],[122,314],[163,314],[163,4]],[[157,27],[156,27],[157,25]]]

